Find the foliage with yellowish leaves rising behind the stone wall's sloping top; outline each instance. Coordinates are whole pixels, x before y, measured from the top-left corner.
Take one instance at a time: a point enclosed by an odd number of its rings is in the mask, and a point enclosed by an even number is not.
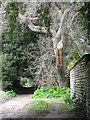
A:
[[[81,4],[81,5],[80,5]],[[78,12],[78,16],[76,17],[76,21],[72,26],[75,34],[77,35],[75,39],[69,38],[70,43],[70,51],[71,54],[70,60],[66,61],[66,77],[69,76],[71,68],[75,65],[75,63],[84,55],[90,53],[89,45],[90,45],[90,2],[78,3],[77,9],[75,12]],[[77,26],[77,27],[76,27]],[[80,28],[80,29],[79,29]],[[79,33],[81,31],[81,33]],[[79,35],[77,34],[79,33]],[[75,35],[74,34],[74,35]],[[80,35],[81,34],[81,35]],[[72,34],[73,36],[73,34]],[[68,54],[66,47],[66,54]],[[71,61],[71,62],[70,62]]]

